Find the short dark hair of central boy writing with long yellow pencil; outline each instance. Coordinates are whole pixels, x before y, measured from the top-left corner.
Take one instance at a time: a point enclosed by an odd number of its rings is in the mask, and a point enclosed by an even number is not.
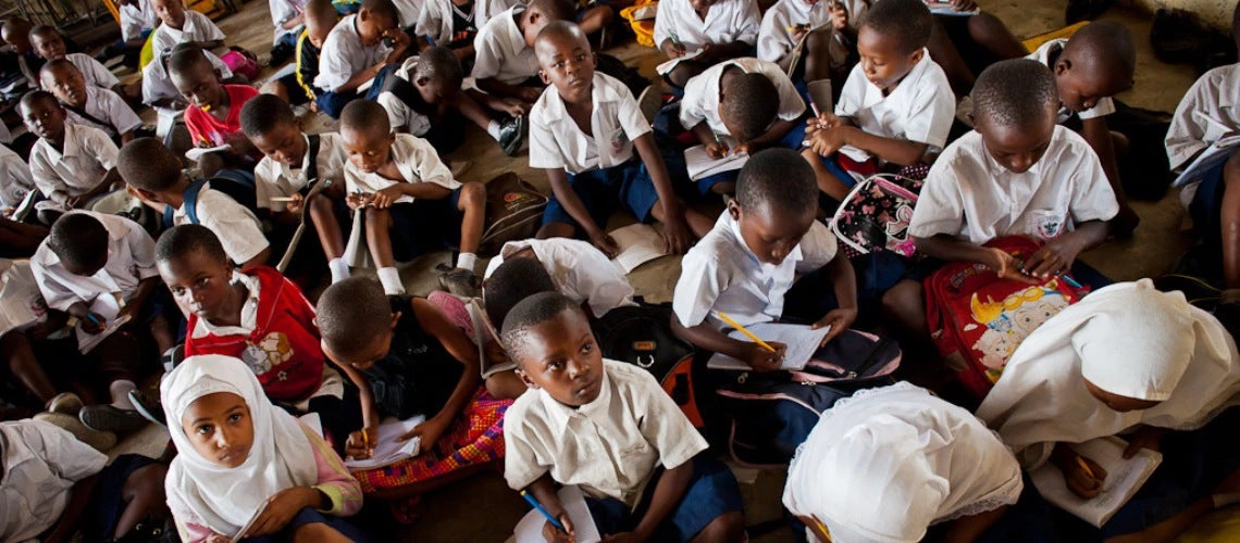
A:
[[[818,184],[800,153],[773,147],[749,157],[737,176],[737,204],[750,213],[808,213],[818,208]]]

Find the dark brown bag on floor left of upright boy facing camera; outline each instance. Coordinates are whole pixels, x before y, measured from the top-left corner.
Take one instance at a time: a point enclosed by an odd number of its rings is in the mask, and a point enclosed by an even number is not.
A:
[[[486,223],[477,254],[492,257],[508,241],[533,237],[542,225],[547,197],[512,172],[486,183]]]

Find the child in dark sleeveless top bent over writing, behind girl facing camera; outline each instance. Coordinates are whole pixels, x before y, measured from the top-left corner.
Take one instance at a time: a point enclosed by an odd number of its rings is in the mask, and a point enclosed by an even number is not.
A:
[[[383,417],[427,421],[403,438],[434,450],[480,381],[477,346],[424,298],[387,297],[373,280],[352,277],[319,299],[322,350],[361,390],[361,430],[350,456],[373,454]]]

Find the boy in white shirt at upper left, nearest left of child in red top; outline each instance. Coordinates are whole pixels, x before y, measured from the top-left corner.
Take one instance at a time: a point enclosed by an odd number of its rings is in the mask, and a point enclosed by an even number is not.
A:
[[[143,120],[119,94],[87,85],[82,72],[66,58],[43,64],[40,77],[43,88],[64,104],[71,124],[103,130],[122,145],[133,140],[134,130],[143,125]]]

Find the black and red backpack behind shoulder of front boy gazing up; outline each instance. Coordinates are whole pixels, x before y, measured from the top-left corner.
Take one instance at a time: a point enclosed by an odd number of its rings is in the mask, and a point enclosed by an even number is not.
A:
[[[618,307],[591,328],[603,356],[649,371],[689,422],[703,425],[693,391],[693,345],[672,331],[670,304]]]

